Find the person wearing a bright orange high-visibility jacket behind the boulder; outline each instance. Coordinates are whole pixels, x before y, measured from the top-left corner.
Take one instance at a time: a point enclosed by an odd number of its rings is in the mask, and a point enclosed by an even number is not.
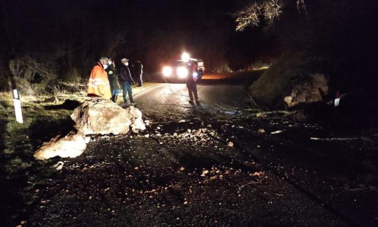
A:
[[[102,57],[95,67],[93,67],[88,81],[88,96],[100,96],[104,99],[111,99],[110,84],[108,74],[105,69],[108,66],[108,59]]]

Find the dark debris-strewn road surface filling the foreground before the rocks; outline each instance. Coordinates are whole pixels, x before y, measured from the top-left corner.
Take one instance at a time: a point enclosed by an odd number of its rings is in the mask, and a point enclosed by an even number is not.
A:
[[[291,117],[229,121],[200,115],[196,120],[150,123],[141,135],[93,137],[83,155],[42,163],[33,173],[40,180],[28,182],[24,200],[9,207],[8,223],[377,223],[373,142],[314,139],[336,135]],[[56,171],[52,164],[58,161],[61,169]]]

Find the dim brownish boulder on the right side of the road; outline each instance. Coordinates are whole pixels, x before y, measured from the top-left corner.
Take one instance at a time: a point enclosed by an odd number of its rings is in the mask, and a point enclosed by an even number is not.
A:
[[[284,100],[289,108],[299,103],[319,102],[328,94],[328,77],[324,74],[312,74],[296,77]]]

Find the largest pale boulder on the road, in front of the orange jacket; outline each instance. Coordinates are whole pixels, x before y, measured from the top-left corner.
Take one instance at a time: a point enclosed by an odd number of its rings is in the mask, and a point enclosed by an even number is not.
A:
[[[145,130],[142,112],[134,106],[123,109],[110,100],[89,98],[77,107],[71,115],[75,128],[85,135],[126,134],[130,127],[138,133]]]

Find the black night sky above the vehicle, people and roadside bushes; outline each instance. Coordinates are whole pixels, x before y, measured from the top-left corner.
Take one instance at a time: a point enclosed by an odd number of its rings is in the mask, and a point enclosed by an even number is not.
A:
[[[146,71],[153,72],[186,50],[202,58],[207,69],[226,64],[238,70],[304,50],[307,55],[331,59],[325,65],[332,64],[336,70],[327,73],[340,80],[349,72],[348,78],[354,77],[357,64],[375,75],[370,66],[378,33],[376,1],[305,1],[307,18],[298,13],[295,1],[286,1],[273,28],[263,23],[236,32],[232,13],[251,2],[2,0],[0,19],[5,32],[0,33],[4,43],[0,58],[32,53],[46,56],[46,61],[54,59],[62,68],[59,72],[78,68],[86,75],[101,55],[139,59]],[[122,44],[106,54],[119,34]]]

